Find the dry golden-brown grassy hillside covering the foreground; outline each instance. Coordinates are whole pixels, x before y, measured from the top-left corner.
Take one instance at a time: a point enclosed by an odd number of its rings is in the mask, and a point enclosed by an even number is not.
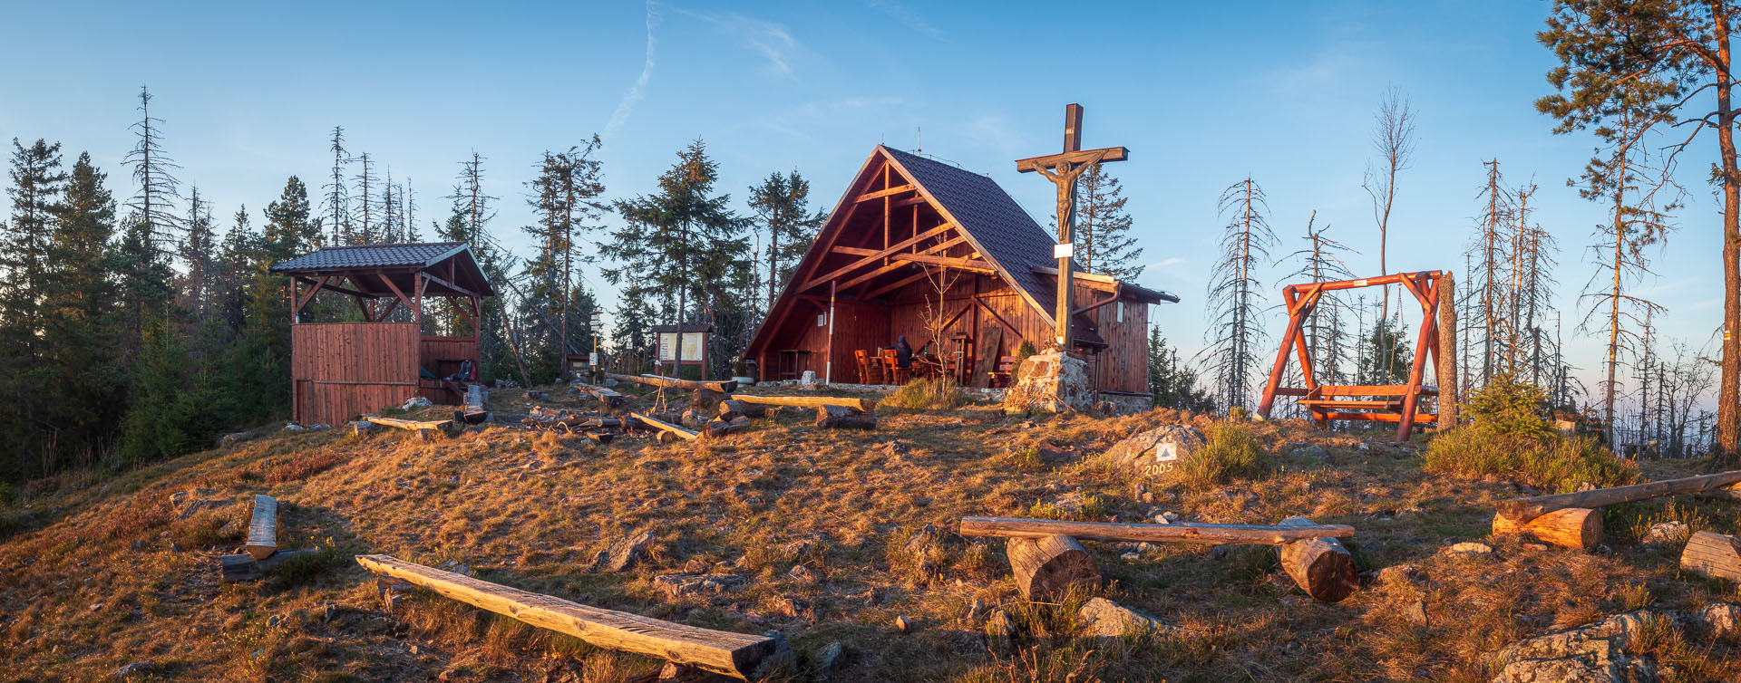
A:
[[[491,401],[526,410],[519,391]],[[1168,422],[1236,429],[1260,462],[1224,483],[1135,481],[1095,462],[1119,438]],[[1328,459],[1295,457],[1306,443]],[[1741,504],[1610,507],[1595,553],[1492,539],[1492,554],[1447,554],[1452,542],[1489,540],[1487,502],[1525,490],[1426,473],[1422,452],[1424,438],[1395,447],[1386,433],[1290,421],[1217,428],[1156,410],[1029,422],[989,407],[884,412],[865,433],[783,414],[721,441],[672,445],[601,447],[505,426],[430,443],[268,431],[120,476],[63,476],[9,502],[0,680],[99,680],[150,662],[136,680],[611,681],[660,664],[427,593],[387,613],[373,575],[350,560],[364,553],[454,560],[487,580],[695,626],[778,629],[799,653],[796,680],[822,678],[810,655],[839,641],[846,657],[832,680],[1478,681],[1492,676],[1489,653],[1520,638],[1645,605],[1736,600],[1731,584],[1682,577],[1678,546],[1637,535],[1664,518],[1736,534]],[[1699,467],[1645,462],[1642,474]],[[192,494],[172,504],[181,492]],[[219,584],[218,556],[240,546],[256,492],[280,501],[280,547],[327,553],[261,582]],[[952,534],[968,514],[1142,521],[1158,511],[1354,525],[1361,568],[1403,568],[1323,605],[1294,587],[1271,547],[1085,542],[1106,570],[1104,596],[1180,626],[1156,643],[1095,648],[1074,638],[1086,596],[1027,603],[1001,542]],[[942,540],[909,542],[926,525]],[[592,570],[599,551],[635,530],[655,539],[642,563]],[[1121,560],[1132,551],[1139,558]],[[651,582],[686,570],[747,582],[689,596]],[[1015,617],[1017,652],[987,648],[966,619],[975,600]],[[1410,617],[1417,607],[1424,624]],[[1741,673],[1741,650],[1697,629],[1649,650],[1697,660],[1677,674]]]

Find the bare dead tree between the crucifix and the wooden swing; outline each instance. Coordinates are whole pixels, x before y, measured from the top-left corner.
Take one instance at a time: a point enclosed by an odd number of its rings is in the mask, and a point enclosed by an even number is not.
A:
[[[1219,202],[1227,216],[1220,238],[1220,259],[1210,271],[1208,346],[1198,351],[1215,382],[1217,398],[1227,408],[1245,408],[1252,386],[1252,368],[1259,365],[1257,346],[1267,339],[1262,325],[1262,287],[1257,266],[1273,261],[1269,249],[1276,235],[1269,229],[1269,205],[1264,189],[1250,177],[1227,186]]]

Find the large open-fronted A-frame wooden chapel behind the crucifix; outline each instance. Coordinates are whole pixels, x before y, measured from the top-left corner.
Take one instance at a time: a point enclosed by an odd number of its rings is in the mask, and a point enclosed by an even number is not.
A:
[[[911,374],[1001,386],[1022,341],[1057,346],[1053,247],[991,177],[877,146],[745,355],[761,381],[895,384],[876,356],[905,335]],[[1147,304],[1179,297],[1081,271],[1072,290],[1071,353],[1102,393],[1147,396]]]

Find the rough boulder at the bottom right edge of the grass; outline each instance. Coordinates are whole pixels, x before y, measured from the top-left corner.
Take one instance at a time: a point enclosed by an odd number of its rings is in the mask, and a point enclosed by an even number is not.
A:
[[[1626,652],[1650,619],[1628,612],[1576,629],[1511,643],[1497,655],[1494,683],[1644,683],[1656,681],[1656,662]]]

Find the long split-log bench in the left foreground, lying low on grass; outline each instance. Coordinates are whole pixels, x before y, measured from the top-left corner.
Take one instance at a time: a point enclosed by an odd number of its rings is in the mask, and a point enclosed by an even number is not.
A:
[[[733,678],[759,678],[778,659],[789,657],[789,650],[782,652],[780,648],[783,640],[776,638],[712,631],[587,607],[413,565],[385,554],[359,554],[357,563],[369,572],[385,574],[541,629],[566,633],[594,647],[658,657]]]

